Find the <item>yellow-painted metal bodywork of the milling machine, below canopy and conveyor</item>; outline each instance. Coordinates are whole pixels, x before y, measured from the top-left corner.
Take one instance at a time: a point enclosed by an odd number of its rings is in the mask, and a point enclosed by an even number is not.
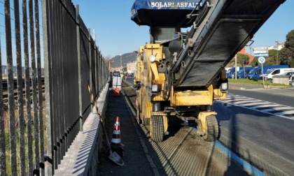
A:
[[[174,89],[171,88],[169,98],[165,99],[164,93],[166,87],[166,74],[163,72],[163,66],[160,65],[162,61],[165,61],[165,54],[162,52],[163,48],[159,44],[146,44],[144,47],[140,47],[137,57],[137,73],[134,79],[134,85],[137,87],[137,119],[143,122],[143,124],[150,125],[151,138],[154,135],[158,135],[160,132],[156,132],[158,124],[154,121],[155,118],[161,118],[160,125],[162,125],[163,133],[167,133],[168,130],[168,117],[172,114],[179,115],[176,111],[170,113],[167,109],[174,109],[179,107],[196,107],[195,121],[200,124],[201,134],[207,135],[208,125],[207,118],[211,115],[216,115],[214,111],[205,111],[205,106],[212,107],[214,100],[225,99],[227,92],[222,91],[219,87],[209,85],[208,87],[202,87],[200,89],[186,88],[186,89]],[[153,57],[153,58],[151,58]],[[155,59],[154,59],[155,58]],[[162,69],[161,69],[162,68]],[[160,70],[161,69],[161,70]],[[153,92],[153,85],[158,85],[158,91]],[[154,103],[162,103],[159,105],[160,110],[154,110]],[[181,113],[183,114],[183,113]],[[217,122],[216,122],[217,123]],[[205,139],[205,138],[204,138]],[[153,140],[160,142],[162,138],[153,138]],[[213,139],[214,140],[214,139]]]

